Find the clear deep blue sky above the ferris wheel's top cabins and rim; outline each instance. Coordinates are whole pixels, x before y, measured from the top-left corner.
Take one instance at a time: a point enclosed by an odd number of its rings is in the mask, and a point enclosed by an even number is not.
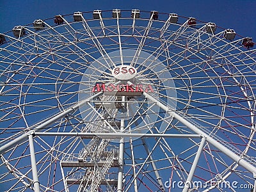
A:
[[[217,26],[235,29],[239,35],[252,36],[253,41],[256,40],[256,0],[0,0],[0,33],[12,30],[13,26],[29,24],[35,19],[47,19],[56,14],[114,8],[174,12],[186,17],[196,17],[205,22],[215,22]]]

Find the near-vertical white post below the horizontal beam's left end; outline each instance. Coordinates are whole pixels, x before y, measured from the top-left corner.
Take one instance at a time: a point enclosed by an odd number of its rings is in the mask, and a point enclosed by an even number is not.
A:
[[[35,156],[35,149],[34,149],[32,133],[29,134],[28,140],[29,140],[29,150],[30,150],[30,158],[31,158],[31,168],[32,168],[32,175],[33,175],[34,191],[40,192],[40,184],[39,184],[38,175],[37,175],[36,156]]]

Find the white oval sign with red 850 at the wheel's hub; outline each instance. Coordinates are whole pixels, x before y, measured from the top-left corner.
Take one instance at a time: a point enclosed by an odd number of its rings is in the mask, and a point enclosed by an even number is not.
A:
[[[137,74],[137,70],[129,65],[120,65],[113,68],[112,75],[118,80],[130,80],[133,79]]]

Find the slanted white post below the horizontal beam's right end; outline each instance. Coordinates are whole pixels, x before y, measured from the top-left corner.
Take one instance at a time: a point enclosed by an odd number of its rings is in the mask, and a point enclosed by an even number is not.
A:
[[[200,145],[198,147],[198,150],[196,152],[195,159],[194,159],[193,164],[190,168],[190,171],[189,171],[189,174],[188,174],[188,179],[185,182],[185,185],[184,185],[184,188],[183,188],[182,192],[187,192],[189,187],[191,186],[191,180],[192,180],[193,175],[195,173],[196,165],[198,163],[199,157],[200,157],[202,149],[204,147],[204,143],[205,143],[205,138],[202,138],[201,143],[200,143]]]

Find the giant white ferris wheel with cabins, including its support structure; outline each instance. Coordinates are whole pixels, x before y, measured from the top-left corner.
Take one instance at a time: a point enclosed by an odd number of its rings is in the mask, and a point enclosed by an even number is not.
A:
[[[0,34],[1,190],[255,191],[254,44],[117,9]]]

